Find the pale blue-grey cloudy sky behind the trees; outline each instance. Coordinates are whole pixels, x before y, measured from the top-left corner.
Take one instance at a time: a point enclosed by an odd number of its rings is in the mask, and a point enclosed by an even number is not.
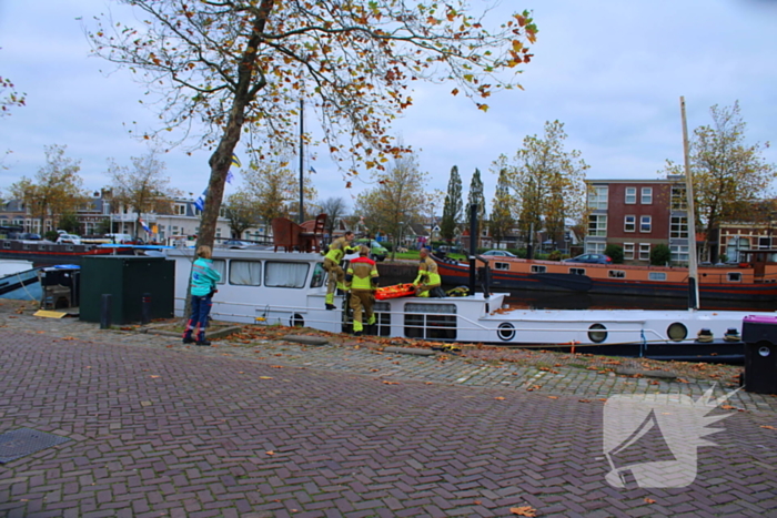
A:
[[[472,0],[474,8],[483,2]],[[107,10],[104,0],[0,0],[0,75],[27,93],[27,106],[0,119],[0,151],[10,150],[0,190],[33,176],[46,145],[67,145],[81,161],[88,190],[104,186],[107,159],[120,164],[148,149],[127,123],[152,128],[154,114],[139,104],[143,87],[125,72],[89,57],[82,18]],[[524,65],[525,91],[488,100],[483,113],[451,87],[420,85],[395,134],[420,150],[430,189],[444,191],[458,166],[464,192],[475,167],[485,197],[494,195],[492,162],[512,156],[524,136],[559,120],[567,150],[579,150],[589,179],[656,179],[666,159],[682,161],[679,97],[688,126],[709,124],[713,104],[739,101],[749,142],[775,139],[777,128],[777,1],[771,0],[505,0],[500,10],[529,9],[539,29],[534,59]],[[306,126],[317,121],[307,118]],[[239,144],[238,154],[242,154]],[[370,185],[344,190],[325,154],[313,182],[321,199],[352,197]],[[175,186],[194,195],[208,176],[205,151],[163,156]],[[777,151],[765,158],[777,162]],[[244,163],[248,162],[244,160]],[[229,191],[228,191],[229,192]],[[440,211],[442,212],[442,211]]]

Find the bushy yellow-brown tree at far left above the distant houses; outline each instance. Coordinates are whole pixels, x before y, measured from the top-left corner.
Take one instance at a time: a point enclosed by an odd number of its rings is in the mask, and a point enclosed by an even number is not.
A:
[[[57,220],[60,214],[75,212],[84,201],[82,180],[78,174],[80,161],[67,158],[65,150],[64,145],[47,146],[46,165],[38,170],[34,180],[22,176],[10,187],[13,196],[28,207],[30,215],[40,220],[41,231],[44,231],[47,217]]]

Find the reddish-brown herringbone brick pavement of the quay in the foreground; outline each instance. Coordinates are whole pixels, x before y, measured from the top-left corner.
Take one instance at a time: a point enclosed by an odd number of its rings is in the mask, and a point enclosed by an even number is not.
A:
[[[729,417],[689,486],[605,480],[607,397],[697,399],[710,380],[353,339],[185,347],[7,306],[0,325],[0,434],[71,439],[0,465],[0,516],[777,516],[771,396],[713,410]],[[632,461],[666,455],[635,447]]]

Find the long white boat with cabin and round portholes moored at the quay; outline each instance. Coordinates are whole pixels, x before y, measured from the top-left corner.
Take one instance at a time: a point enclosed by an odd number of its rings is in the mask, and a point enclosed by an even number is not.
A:
[[[191,250],[168,251],[176,261],[175,313],[183,316],[192,263]],[[244,324],[306,326],[339,333],[350,329],[342,295],[335,297],[335,311],[324,308],[326,287],[322,278],[323,258],[317,254],[273,253],[271,251],[216,250],[214,260],[224,282],[213,298],[212,317]],[[234,271],[251,263],[256,285],[235,284]],[[299,287],[266,285],[266,275],[276,276],[284,266],[305,270]],[[234,270],[233,270],[234,268]],[[271,272],[271,273],[268,273]],[[243,275],[243,274],[241,274]],[[265,277],[262,277],[262,276]],[[245,282],[245,275],[240,282]],[[278,280],[272,281],[278,283]],[[720,342],[730,329],[741,333],[747,315],[775,316],[774,313],[643,311],[643,309],[509,309],[507,294],[482,293],[466,297],[405,297],[375,303],[379,336],[406,337],[436,342],[488,343],[508,346],[618,346],[700,344],[697,336],[707,329]],[[739,344],[741,345],[741,344]],[[583,351],[581,351],[583,352]]]

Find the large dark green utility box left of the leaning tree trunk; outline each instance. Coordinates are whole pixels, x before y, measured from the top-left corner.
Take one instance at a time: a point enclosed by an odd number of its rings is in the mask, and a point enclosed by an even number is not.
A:
[[[173,316],[175,262],[164,257],[98,255],[81,258],[80,318],[101,322],[102,295],[111,295],[111,323],[142,319],[143,296],[150,295],[149,317]]]

